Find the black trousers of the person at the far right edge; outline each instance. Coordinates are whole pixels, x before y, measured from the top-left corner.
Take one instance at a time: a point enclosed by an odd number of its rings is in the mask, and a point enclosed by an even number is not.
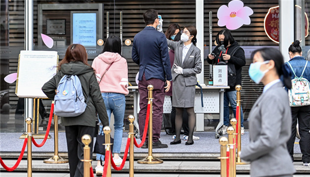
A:
[[[292,135],[287,142],[288,152],[292,159],[294,154],[294,143],[296,139],[296,124],[298,128],[300,141],[299,146],[303,154],[302,161],[310,162],[310,106],[291,107],[292,110]]]

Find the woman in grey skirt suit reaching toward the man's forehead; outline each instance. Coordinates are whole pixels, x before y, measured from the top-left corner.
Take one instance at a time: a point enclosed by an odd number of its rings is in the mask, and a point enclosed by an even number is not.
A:
[[[194,112],[196,74],[201,72],[200,50],[195,46],[197,30],[186,26],[181,31],[181,41],[167,39],[168,47],[175,51],[172,72],[172,106],[176,108],[176,138],[170,145],[181,143],[182,114],[184,108],[188,114],[188,139],[185,145],[194,144],[193,132],[196,123]]]

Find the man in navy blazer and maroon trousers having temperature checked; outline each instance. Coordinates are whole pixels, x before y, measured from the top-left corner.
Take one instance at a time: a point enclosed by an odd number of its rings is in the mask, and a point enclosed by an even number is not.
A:
[[[132,60],[140,66],[138,88],[140,93],[139,130],[142,139],[148,106],[148,85],[153,85],[153,148],[168,148],[159,140],[165,91],[172,81],[166,36],[156,30],[160,24],[158,12],[149,9],[143,14],[147,25],[133,38]],[[167,86],[165,87],[165,82]],[[141,148],[148,148],[148,140]]]

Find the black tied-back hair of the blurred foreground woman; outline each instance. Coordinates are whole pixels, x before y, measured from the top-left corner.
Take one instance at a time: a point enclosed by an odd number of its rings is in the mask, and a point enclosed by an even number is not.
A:
[[[275,61],[275,68],[277,70],[277,74],[279,75],[280,78],[282,78],[282,82],[284,86],[288,89],[291,89],[292,83],[291,83],[290,72],[284,66],[284,59],[283,59],[281,52],[277,49],[262,48],[262,49],[255,50],[252,53],[251,58],[253,58],[253,56],[256,53],[260,53],[264,61],[268,61],[268,60]]]

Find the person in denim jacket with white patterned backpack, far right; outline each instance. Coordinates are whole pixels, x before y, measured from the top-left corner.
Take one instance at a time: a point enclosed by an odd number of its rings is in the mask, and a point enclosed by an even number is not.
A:
[[[310,62],[307,61],[304,57],[302,57],[303,52],[300,47],[299,40],[295,40],[292,45],[288,48],[288,54],[290,60],[285,63],[285,67],[290,68],[294,74],[291,75],[291,79],[295,78],[295,75],[297,78],[300,78],[303,76],[304,79],[308,80],[308,84],[310,81]],[[303,83],[303,89],[306,89],[307,85],[305,82]],[[298,84],[298,83],[296,83]],[[309,85],[308,85],[309,86]],[[295,84],[293,84],[292,88],[287,89],[300,89],[298,86],[296,87]],[[290,92],[290,90],[288,90]],[[309,91],[309,87],[308,87]],[[308,92],[302,91],[302,92]],[[309,95],[309,93],[308,93]],[[306,97],[307,94],[298,94],[297,96],[305,96],[305,103],[308,101]],[[294,103],[292,103],[294,104]],[[299,104],[298,101],[295,104]],[[300,135],[300,141],[299,141],[299,147],[303,154],[302,161],[304,166],[310,166],[310,105],[309,103],[305,106],[302,106],[302,103],[300,101],[301,106],[291,106],[292,111],[292,135],[291,138],[287,142],[287,148],[288,152],[291,155],[292,160],[294,160],[294,143],[296,139],[296,125],[298,120],[298,128],[299,128],[299,135]]]

